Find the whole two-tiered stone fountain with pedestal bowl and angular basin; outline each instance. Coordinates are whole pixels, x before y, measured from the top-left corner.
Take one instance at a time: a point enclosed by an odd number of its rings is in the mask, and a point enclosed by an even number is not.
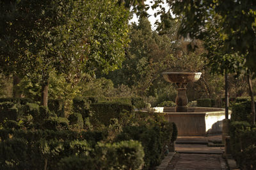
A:
[[[175,83],[177,97],[176,107],[154,107],[156,112],[163,112],[166,120],[174,122],[178,135],[220,134],[225,109],[212,107],[188,107],[186,86],[188,82],[196,82],[202,73],[163,72],[166,81]],[[230,116],[231,112],[229,112]]]

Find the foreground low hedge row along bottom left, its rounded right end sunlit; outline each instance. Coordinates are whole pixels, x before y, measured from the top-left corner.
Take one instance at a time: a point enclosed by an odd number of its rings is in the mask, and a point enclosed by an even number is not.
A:
[[[73,140],[60,140],[52,137],[55,132],[49,133],[51,138],[42,133],[45,132],[19,131],[13,132],[12,138],[1,138],[1,169],[141,169],[143,166],[144,153],[138,141],[96,144],[81,138],[83,134]]]

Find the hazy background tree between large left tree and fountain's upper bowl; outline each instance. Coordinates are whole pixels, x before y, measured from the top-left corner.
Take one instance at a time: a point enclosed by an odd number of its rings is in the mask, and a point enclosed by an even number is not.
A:
[[[115,87],[121,84],[133,88],[138,95],[147,96],[154,81],[168,64],[168,55],[172,53],[170,38],[159,36],[151,30],[150,22],[141,17],[138,26],[132,24],[129,33],[131,42],[126,49],[126,59],[120,70],[106,75]]]

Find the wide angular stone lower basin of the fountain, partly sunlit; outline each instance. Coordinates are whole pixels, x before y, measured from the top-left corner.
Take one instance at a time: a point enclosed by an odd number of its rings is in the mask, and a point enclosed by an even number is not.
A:
[[[175,107],[154,107],[163,112],[169,122],[174,122],[179,136],[221,134],[225,109],[213,107],[188,107],[188,112],[175,112]],[[228,112],[230,117],[231,111]]]

